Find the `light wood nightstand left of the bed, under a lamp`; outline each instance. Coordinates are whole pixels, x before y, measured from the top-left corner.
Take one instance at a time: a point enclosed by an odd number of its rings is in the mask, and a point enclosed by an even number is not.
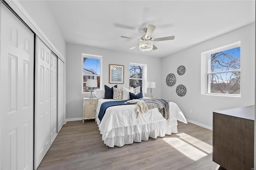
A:
[[[85,119],[95,119],[96,121],[97,103],[98,103],[98,99],[84,98],[83,123]]]

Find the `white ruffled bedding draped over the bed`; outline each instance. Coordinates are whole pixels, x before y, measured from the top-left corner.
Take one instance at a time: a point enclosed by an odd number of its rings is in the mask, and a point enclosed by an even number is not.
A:
[[[187,123],[180,108],[173,102],[169,102],[169,123],[157,108],[145,114],[139,113],[137,118],[136,105],[109,107],[100,122],[98,119],[100,106],[106,101],[113,101],[113,99],[98,99],[96,122],[104,144],[110,147],[141,142],[141,140],[148,140],[148,137],[157,138],[177,133],[177,120]]]

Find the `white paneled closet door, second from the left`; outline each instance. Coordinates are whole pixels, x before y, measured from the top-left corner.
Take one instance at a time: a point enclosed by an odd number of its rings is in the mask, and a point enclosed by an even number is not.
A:
[[[35,168],[50,148],[50,49],[36,38]]]

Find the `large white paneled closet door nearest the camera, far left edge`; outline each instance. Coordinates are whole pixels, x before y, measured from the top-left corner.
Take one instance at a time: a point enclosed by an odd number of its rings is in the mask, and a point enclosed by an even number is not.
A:
[[[1,169],[33,169],[34,34],[1,5]]]

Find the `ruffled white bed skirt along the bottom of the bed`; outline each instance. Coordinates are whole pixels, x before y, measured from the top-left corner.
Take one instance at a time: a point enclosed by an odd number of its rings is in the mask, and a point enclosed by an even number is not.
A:
[[[98,122],[98,121],[97,121]],[[170,119],[168,125],[167,121],[158,121],[147,123],[144,125],[133,125],[129,127],[112,128],[108,133],[102,134],[104,144],[109,147],[124,146],[125,144],[132,144],[133,142],[141,142],[148,140],[149,137],[157,138],[164,137],[166,134],[177,133],[177,120]]]

